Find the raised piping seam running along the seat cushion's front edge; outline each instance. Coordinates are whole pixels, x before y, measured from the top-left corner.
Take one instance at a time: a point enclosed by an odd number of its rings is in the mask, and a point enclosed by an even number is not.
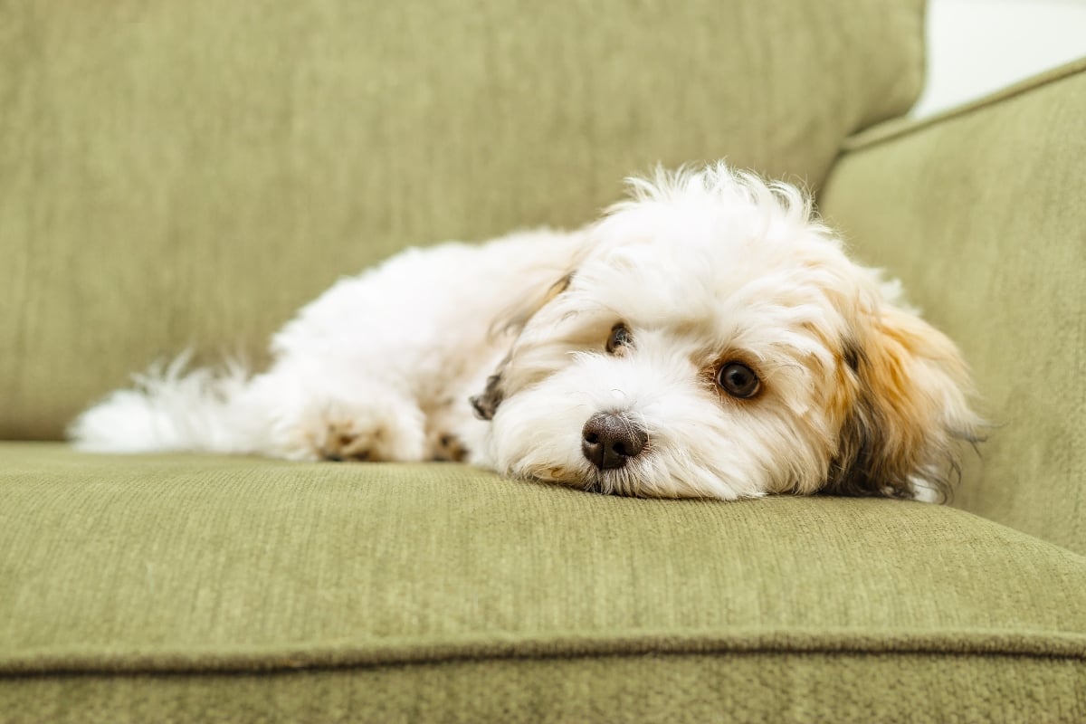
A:
[[[490,636],[440,644],[386,640],[365,645],[238,647],[224,651],[151,648],[78,653],[39,650],[0,659],[0,676],[90,673],[229,673],[355,669],[446,661],[564,659],[646,655],[839,653],[1070,659],[1086,662],[1086,634],[961,631],[821,633],[796,631],[707,635],[636,632],[624,636]]]

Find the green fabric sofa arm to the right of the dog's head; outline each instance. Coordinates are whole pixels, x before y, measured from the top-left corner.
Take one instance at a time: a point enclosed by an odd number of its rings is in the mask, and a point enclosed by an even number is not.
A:
[[[1086,61],[858,139],[823,211],[960,343],[995,425],[957,505],[1086,552]],[[1086,595],[1086,584],[1083,587]]]

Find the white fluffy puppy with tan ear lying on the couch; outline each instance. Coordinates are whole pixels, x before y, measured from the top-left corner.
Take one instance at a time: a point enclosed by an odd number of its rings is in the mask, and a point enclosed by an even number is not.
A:
[[[408,250],[304,307],[267,371],[175,363],[72,436],[639,496],[945,492],[967,368],[799,191],[723,164],[630,191],[578,231]]]

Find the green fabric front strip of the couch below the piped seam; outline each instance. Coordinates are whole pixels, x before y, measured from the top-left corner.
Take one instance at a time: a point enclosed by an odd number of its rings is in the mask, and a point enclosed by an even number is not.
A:
[[[0,678],[11,724],[1076,724],[1081,660],[733,653]]]

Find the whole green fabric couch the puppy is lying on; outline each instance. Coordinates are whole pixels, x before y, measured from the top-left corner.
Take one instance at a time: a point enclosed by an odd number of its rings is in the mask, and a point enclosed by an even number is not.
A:
[[[1086,721],[1086,64],[910,123],[923,10],[0,4],[0,722]],[[405,244],[721,156],[960,342],[952,506],[55,442]]]

